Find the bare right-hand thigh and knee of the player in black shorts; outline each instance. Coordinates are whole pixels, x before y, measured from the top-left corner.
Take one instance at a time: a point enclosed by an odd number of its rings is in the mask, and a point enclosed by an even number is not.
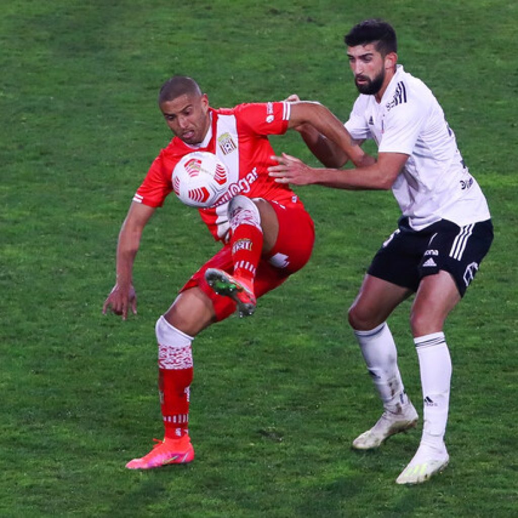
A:
[[[410,313],[410,326],[414,337],[439,333],[450,311],[461,300],[455,280],[450,272],[440,270],[421,280]]]

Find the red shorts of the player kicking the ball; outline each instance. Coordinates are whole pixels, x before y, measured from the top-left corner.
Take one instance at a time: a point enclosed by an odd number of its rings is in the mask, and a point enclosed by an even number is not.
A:
[[[257,298],[281,285],[290,275],[300,270],[309,261],[315,240],[313,221],[303,207],[269,203],[277,214],[279,235],[274,248],[263,255],[257,265],[254,280]],[[231,298],[222,297],[212,291],[205,280],[207,268],[219,268],[232,274],[234,263],[228,243],[189,279],[180,293],[199,286],[212,300],[216,319],[224,320],[236,310],[236,303]]]

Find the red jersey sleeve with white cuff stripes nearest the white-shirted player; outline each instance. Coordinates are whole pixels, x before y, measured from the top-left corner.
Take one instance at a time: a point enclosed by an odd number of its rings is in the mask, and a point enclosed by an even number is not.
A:
[[[236,117],[256,135],[283,135],[290,120],[290,103],[250,103],[235,109]]]

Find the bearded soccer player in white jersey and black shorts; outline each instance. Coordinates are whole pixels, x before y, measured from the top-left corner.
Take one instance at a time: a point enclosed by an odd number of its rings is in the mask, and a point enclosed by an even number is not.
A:
[[[410,326],[418,353],[424,425],[418,451],[398,484],[424,482],[449,462],[444,444],[452,365],[443,333],[493,240],[486,199],[457,149],[455,135],[433,93],[397,65],[393,27],[366,20],[346,36],[360,92],[345,127],[351,144],[373,139],[375,164],[340,170],[347,155],[311,126],[297,128],[311,151],[332,169],[313,169],[277,157],[270,175],[282,183],[338,189],[391,189],[401,209],[398,228],[383,243],[349,309],[349,322],[383,402],[378,422],[353,441],[377,448],[418,421],[397,366],[386,319],[412,293]],[[292,96],[292,100],[297,100]]]

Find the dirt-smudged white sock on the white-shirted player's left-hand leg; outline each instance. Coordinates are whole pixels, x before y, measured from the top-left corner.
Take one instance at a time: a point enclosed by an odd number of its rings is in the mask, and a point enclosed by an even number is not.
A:
[[[383,407],[396,413],[408,402],[397,367],[397,350],[386,322],[370,331],[354,330],[367,369],[383,401]]]

